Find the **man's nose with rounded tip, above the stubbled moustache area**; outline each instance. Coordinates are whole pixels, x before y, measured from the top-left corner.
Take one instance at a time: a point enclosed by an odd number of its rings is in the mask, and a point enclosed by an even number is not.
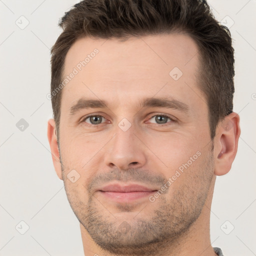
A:
[[[122,170],[139,168],[146,163],[145,146],[135,134],[132,126],[123,131],[118,126],[115,134],[106,145],[104,163],[108,167]]]

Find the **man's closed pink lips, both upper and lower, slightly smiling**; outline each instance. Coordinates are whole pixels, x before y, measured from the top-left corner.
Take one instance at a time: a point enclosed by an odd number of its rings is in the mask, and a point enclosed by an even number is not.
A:
[[[110,184],[102,187],[98,191],[102,196],[110,200],[117,202],[131,202],[142,198],[145,199],[157,190],[138,184]]]

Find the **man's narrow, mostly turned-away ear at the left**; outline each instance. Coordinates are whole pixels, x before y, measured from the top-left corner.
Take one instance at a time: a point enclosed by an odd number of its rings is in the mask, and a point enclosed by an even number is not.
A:
[[[55,130],[55,121],[53,119],[48,120],[47,137],[50,144],[51,157],[52,157],[55,171],[58,177],[60,179],[63,179],[62,172],[61,172],[59,151],[58,151],[56,130]]]

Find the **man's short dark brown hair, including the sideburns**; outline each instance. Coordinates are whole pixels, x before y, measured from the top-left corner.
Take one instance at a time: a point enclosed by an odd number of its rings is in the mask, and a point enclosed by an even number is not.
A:
[[[127,39],[184,31],[199,46],[199,86],[208,105],[211,138],[233,108],[234,57],[229,30],[204,0],[82,0],[59,21],[63,32],[51,48],[51,94],[63,80],[66,53],[81,36]],[[59,134],[61,91],[51,97]]]

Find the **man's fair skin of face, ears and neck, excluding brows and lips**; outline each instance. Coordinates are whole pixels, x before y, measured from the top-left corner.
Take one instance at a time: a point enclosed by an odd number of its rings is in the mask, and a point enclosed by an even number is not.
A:
[[[215,255],[210,205],[215,177],[230,170],[237,151],[239,115],[226,116],[211,141],[206,99],[196,79],[198,47],[186,34],[79,38],[67,52],[64,76],[94,48],[99,52],[62,89],[59,148],[54,120],[48,121],[54,168],[80,222],[84,254]],[[169,75],[175,66],[183,73],[176,81]],[[138,105],[146,97],[166,96],[188,111]],[[105,100],[108,107],[70,115],[81,97]],[[88,114],[104,118],[95,124],[85,119]],[[173,120],[159,123],[161,114]],[[123,118],[131,124],[126,131],[118,126]],[[80,175],[74,183],[67,178],[72,169]],[[148,196],[116,202],[98,191],[112,181],[167,188],[153,202]]]

